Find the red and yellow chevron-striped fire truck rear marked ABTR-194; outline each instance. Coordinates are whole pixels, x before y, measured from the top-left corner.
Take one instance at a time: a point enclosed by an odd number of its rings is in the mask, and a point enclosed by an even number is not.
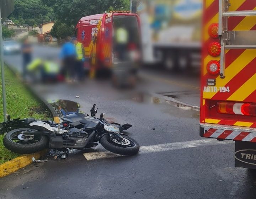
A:
[[[256,168],[256,1],[204,0],[200,136]]]

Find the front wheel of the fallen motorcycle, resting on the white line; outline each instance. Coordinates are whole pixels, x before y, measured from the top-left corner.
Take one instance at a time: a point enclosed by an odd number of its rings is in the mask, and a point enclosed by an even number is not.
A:
[[[110,135],[103,135],[100,142],[101,145],[115,154],[132,156],[139,152],[139,144],[136,140],[123,136],[122,140],[111,139]]]

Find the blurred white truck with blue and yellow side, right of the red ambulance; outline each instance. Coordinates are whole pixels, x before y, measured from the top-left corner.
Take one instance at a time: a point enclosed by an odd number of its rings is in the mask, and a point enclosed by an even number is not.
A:
[[[202,0],[132,0],[140,16],[143,63],[199,71]]]

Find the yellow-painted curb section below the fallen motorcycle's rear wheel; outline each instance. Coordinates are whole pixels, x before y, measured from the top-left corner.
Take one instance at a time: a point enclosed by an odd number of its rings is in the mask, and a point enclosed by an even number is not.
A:
[[[32,157],[36,158],[38,160],[42,155],[46,154],[47,150],[40,151],[35,154],[28,154],[28,155],[22,155],[20,157],[17,157],[13,160],[10,160],[8,162],[5,162],[0,165],[0,178],[7,176],[11,173],[14,173],[15,171],[18,171],[19,169],[30,165],[32,163]]]

